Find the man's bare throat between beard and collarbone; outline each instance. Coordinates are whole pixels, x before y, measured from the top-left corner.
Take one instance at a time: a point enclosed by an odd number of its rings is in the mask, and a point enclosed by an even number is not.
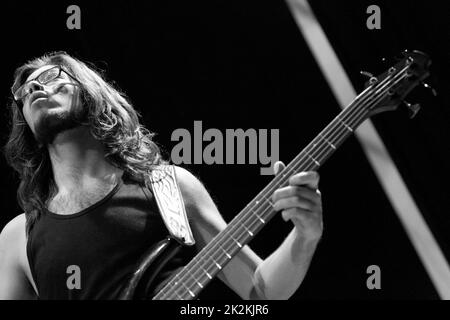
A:
[[[106,161],[103,145],[85,126],[60,133],[48,151],[59,194],[113,184],[123,173]]]

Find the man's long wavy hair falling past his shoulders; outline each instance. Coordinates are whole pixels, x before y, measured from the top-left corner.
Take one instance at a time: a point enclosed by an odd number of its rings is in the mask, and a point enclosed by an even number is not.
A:
[[[102,143],[107,161],[140,183],[145,182],[145,175],[155,166],[167,163],[152,141],[154,133],[139,123],[140,115],[125,94],[105,80],[95,66],[88,66],[66,52],[45,54],[17,68],[13,89],[45,65],[61,65],[81,83],[80,97],[87,116],[86,123],[80,124],[89,126],[92,136]],[[4,153],[8,164],[19,174],[17,199],[25,212],[28,235],[54,195],[56,185],[47,147],[37,142],[21,109],[21,102],[12,99],[11,131]]]

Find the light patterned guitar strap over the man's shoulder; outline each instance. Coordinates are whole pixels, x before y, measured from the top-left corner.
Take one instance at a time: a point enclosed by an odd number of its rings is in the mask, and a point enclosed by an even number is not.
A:
[[[159,212],[170,235],[179,243],[187,246],[195,244],[183,196],[175,176],[173,165],[160,165],[147,176],[147,187],[153,191]]]

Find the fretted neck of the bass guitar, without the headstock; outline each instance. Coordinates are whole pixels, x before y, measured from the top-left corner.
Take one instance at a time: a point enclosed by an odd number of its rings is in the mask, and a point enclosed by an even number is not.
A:
[[[270,200],[273,192],[288,185],[288,180],[294,173],[318,169],[367,118],[367,109],[358,102],[357,98],[323,129],[153,299],[195,298],[232,257],[274,217],[276,212],[272,209]]]

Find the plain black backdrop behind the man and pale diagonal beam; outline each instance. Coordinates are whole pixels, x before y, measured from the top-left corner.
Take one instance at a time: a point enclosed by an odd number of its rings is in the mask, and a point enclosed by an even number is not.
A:
[[[66,8],[81,8],[81,30],[68,30]],[[381,30],[368,30],[366,8],[381,8]],[[428,53],[433,64],[418,116],[402,111],[372,121],[420,210],[449,258],[448,122],[450,10],[444,1],[311,3],[356,90],[360,70],[379,74],[403,49]],[[289,162],[340,111],[283,1],[2,2],[2,144],[16,67],[65,50],[105,70],[127,93],[156,141],[170,155],[171,133],[194,120],[203,128],[278,128],[280,158]],[[383,64],[381,58],[388,58]],[[21,213],[17,176],[0,160],[0,227]],[[186,165],[231,220],[271,179],[260,165]],[[320,169],[324,236],[293,299],[438,299],[362,149],[351,137]],[[266,257],[290,224],[281,217],[250,243]],[[381,268],[381,290],[368,290],[366,269]],[[219,280],[202,299],[236,298]]]

